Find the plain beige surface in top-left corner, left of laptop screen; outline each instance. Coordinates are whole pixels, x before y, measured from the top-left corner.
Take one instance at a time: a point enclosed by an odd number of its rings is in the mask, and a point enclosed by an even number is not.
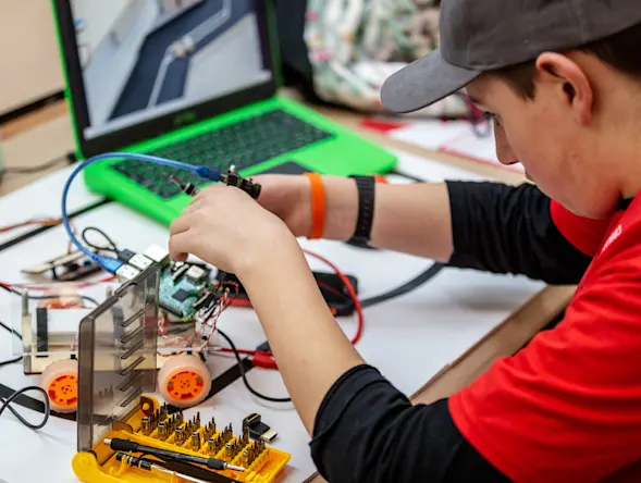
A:
[[[50,3],[0,2],[0,114],[62,89]]]

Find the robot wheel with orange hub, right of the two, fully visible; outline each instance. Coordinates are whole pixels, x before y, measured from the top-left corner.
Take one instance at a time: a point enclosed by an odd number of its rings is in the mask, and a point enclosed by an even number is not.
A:
[[[178,408],[202,403],[210,388],[209,370],[198,356],[171,356],[158,371],[160,394],[169,404]]]

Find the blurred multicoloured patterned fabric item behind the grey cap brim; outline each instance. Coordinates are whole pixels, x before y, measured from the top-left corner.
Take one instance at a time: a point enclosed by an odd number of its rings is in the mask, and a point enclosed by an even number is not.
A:
[[[325,102],[384,112],[387,76],[439,44],[440,0],[308,0],[305,41],[313,89]],[[428,81],[426,81],[428,82]],[[469,115],[465,96],[449,96],[415,115]]]

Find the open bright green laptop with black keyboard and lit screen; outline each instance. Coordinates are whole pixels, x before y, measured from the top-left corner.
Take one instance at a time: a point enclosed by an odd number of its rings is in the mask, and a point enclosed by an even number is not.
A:
[[[280,97],[267,0],[52,0],[79,160],[136,152],[232,165],[242,176],[369,175],[396,157]],[[185,171],[132,160],[85,169],[90,190],[169,225],[188,203]]]

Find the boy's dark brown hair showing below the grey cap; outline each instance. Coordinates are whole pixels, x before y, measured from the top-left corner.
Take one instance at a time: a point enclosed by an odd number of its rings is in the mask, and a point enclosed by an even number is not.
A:
[[[602,40],[584,45],[577,50],[591,53],[617,71],[641,82],[641,24]],[[517,95],[533,99],[537,77],[535,61],[498,69],[493,75],[506,81]]]

